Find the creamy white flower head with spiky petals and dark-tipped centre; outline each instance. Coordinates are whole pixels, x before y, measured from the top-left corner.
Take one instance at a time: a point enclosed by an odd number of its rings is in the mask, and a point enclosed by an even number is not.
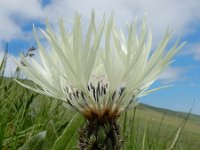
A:
[[[59,26],[59,36],[53,33],[49,24],[46,31],[41,30],[51,46],[49,50],[41,45],[34,29],[41,63],[34,58],[28,62],[23,56],[21,59],[25,66],[16,61],[38,86],[17,82],[62,100],[87,119],[117,118],[134,107],[139,97],[160,89],[147,90],[183,46],[178,46],[176,42],[165,53],[170,39],[170,32],[167,31],[157,48],[151,51],[152,35],[145,19],[140,34],[136,21],[128,27],[127,38],[114,25],[113,15],[108,23],[105,24],[103,19],[96,27],[93,12],[85,36],[78,14],[72,32],[64,28],[62,21]]]

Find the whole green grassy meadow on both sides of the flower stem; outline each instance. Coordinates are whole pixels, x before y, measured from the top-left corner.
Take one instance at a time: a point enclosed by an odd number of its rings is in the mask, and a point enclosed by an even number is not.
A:
[[[17,70],[4,77],[0,64],[0,149],[77,149],[84,118],[62,102],[21,87]],[[19,79],[21,80],[21,79]],[[22,82],[32,84],[24,79]],[[200,116],[139,104],[119,118],[124,150],[199,150]]]

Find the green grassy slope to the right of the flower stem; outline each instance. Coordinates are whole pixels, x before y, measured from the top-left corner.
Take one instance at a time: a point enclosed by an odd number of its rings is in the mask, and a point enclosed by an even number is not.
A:
[[[133,111],[129,112],[127,117],[130,121],[129,127],[131,127],[133,120],[131,115],[133,116],[133,114]],[[180,124],[183,121],[187,121],[173,149],[198,150],[200,147],[200,117],[190,114],[186,120],[184,118],[187,118],[187,115],[187,113],[183,112],[140,104],[135,111],[134,123],[132,125],[134,129],[127,129],[129,133],[136,134],[130,143],[135,142],[133,144],[136,146],[135,149],[142,149],[143,136],[146,134],[147,144],[145,145],[145,150],[166,149],[172,143]],[[149,145],[151,146],[149,147]]]

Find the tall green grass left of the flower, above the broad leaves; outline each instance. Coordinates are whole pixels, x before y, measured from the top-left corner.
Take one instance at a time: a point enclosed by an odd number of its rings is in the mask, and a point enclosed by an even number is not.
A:
[[[73,113],[62,103],[21,87],[14,77],[4,77],[6,60],[7,50],[0,64],[0,149],[17,149],[42,131],[47,132],[49,147],[53,146]]]

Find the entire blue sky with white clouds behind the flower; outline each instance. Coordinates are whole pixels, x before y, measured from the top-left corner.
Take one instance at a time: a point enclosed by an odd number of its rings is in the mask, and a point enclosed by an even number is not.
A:
[[[159,77],[153,85],[173,84],[141,98],[141,102],[178,111],[189,111],[193,102],[193,113],[200,114],[200,1],[199,0],[0,0],[0,59],[5,43],[9,44],[9,59],[6,74],[14,71],[15,64],[11,56],[35,45],[32,34],[33,24],[44,28],[48,18],[57,29],[58,18],[66,25],[74,12],[81,13],[87,22],[91,10],[96,12],[97,22],[105,13],[115,12],[115,21],[124,28],[138,16],[147,14],[147,21],[153,33],[153,45],[159,42],[166,28],[173,30],[170,45],[177,38],[187,44],[174,58],[175,62]]]

